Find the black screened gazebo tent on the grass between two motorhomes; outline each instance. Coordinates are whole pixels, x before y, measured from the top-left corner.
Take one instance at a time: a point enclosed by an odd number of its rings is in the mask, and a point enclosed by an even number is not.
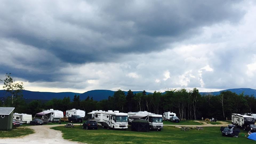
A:
[[[137,119],[131,122],[132,131],[146,131],[150,129],[149,122],[143,119]]]

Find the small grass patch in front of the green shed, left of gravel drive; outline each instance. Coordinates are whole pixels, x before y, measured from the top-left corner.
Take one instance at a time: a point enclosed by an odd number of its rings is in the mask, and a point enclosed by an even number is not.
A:
[[[29,129],[27,127],[17,127],[12,130],[0,131],[0,138],[13,138],[20,137],[24,135],[29,135],[35,133],[34,130]]]

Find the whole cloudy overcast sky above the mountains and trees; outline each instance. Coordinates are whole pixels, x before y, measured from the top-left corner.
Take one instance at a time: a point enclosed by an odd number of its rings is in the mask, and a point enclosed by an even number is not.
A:
[[[255,1],[1,1],[0,79],[51,92],[256,89],[255,14]]]

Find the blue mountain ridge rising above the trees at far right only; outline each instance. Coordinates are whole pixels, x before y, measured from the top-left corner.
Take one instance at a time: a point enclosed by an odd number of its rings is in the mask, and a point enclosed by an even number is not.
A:
[[[210,93],[200,92],[200,94],[201,95],[203,95],[203,94],[218,95],[222,91],[231,91],[231,92],[236,93],[236,94],[241,94],[242,92],[244,92],[243,93],[244,95],[254,95],[254,97],[256,96],[256,90],[255,89],[249,89],[249,88],[227,89],[227,90],[215,91],[215,92],[210,92]]]

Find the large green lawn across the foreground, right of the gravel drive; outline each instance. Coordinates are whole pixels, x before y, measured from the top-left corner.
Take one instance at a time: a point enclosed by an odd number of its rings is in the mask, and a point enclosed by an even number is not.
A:
[[[53,127],[60,130],[64,139],[84,143],[253,143],[254,141],[242,137],[247,134],[241,130],[238,138],[223,137],[220,127],[205,127],[204,130],[181,131],[174,126],[164,126],[162,131],[136,132],[128,130],[112,130],[99,127],[98,130],[84,130],[81,126],[65,128],[63,126]]]

